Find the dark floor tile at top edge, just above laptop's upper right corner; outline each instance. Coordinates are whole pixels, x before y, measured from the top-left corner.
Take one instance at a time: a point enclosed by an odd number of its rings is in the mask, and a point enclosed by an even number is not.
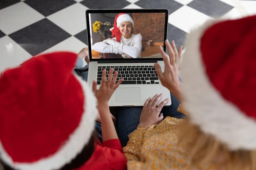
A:
[[[168,9],[169,14],[176,11],[178,8],[182,7],[183,4],[178,3],[174,0],[139,0],[135,3],[136,5],[142,8],[149,8],[149,9],[156,9],[156,8],[163,8]]]

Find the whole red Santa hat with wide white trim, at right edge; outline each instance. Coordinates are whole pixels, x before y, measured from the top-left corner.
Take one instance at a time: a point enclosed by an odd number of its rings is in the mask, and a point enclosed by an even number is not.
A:
[[[192,122],[231,150],[256,149],[256,16],[210,20],[188,34],[181,63]]]

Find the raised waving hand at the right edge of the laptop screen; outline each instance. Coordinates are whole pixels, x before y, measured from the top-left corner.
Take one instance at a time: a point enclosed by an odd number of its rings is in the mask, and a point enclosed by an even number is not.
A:
[[[183,99],[180,88],[181,83],[179,82],[178,76],[178,62],[181,58],[182,46],[180,46],[177,51],[174,41],[170,44],[168,40],[165,40],[165,45],[169,56],[163,51],[163,48],[160,47],[164,62],[164,71],[161,71],[158,63],[155,63],[155,68],[161,84],[168,88],[175,95],[177,100],[181,102]]]

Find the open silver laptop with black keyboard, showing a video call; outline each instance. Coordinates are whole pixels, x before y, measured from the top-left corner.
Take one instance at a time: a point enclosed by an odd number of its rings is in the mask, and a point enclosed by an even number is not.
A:
[[[115,19],[118,28],[114,27]],[[164,70],[159,46],[165,51],[167,9],[88,9],[86,24],[88,84],[95,80],[99,88],[103,69],[108,72],[113,68],[118,79],[123,78],[109,106],[143,106],[146,99],[160,93],[162,100],[170,99],[166,105],[171,105],[170,91],[161,85],[154,68],[157,62]]]

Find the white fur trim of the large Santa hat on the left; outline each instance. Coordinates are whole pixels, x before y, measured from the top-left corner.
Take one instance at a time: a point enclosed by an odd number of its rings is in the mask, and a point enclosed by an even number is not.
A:
[[[70,134],[69,139],[63,144],[59,151],[49,157],[40,159],[34,163],[13,162],[12,158],[5,152],[0,142],[1,158],[14,169],[19,170],[56,170],[70,163],[84,148],[95,129],[95,119],[98,114],[97,100],[85,81],[75,75],[81,84],[85,94],[84,113],[77,129]],[[26,153],[24,153],[26,154]]]

